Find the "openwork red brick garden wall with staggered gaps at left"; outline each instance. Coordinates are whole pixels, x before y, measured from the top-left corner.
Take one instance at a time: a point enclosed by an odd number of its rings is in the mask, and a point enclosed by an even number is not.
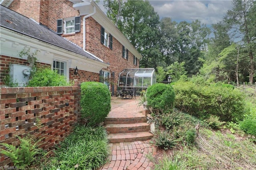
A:
[[[42,138],[40,148],[58,144],[80,119],[80,87],[0,88],[0,140],[18,145],[16,136],[32,134]],[[42,127],[36,127],[36,118]],[[4,148],[1,146],[1,148]],[[0,156],[1,166],[11,161]]]

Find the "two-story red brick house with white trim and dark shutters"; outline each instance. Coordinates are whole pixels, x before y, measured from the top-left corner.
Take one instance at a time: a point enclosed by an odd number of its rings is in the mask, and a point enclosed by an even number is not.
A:
[[[142,57],[89,0],[2,0],[1,73],[9,63],[28,65],[26,58],[18,57],[24,48],[39,50],[38,64],[79,82],[100,81],[101,75],[117,83],[118,74],[138,68]],[[56,67],[59,64],[62,68]],[[112,92],[116,88],[112,85]]]

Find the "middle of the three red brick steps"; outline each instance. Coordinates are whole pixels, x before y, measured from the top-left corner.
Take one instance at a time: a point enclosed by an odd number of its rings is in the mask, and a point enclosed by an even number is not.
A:
[[[105,125],[105,128],[110,134],[150,131],[148,123],[111,124]]]

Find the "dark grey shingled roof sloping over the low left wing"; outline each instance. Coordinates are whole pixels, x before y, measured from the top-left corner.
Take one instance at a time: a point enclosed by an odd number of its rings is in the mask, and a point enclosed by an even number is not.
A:
[[[100,61],[99,59],[93,57],[92,55],[86,53],[78,45],[69,42],[67,39],[62,38],[55,32],[47,28],[46,26],[37,24],[35,21],[23,16],[13,10],[10,10],[4,6],[0,6],[0,26],[24,34],[31,38],[41,40],[46,43],[50,43],[57,47],[78,53],[90,59]]]

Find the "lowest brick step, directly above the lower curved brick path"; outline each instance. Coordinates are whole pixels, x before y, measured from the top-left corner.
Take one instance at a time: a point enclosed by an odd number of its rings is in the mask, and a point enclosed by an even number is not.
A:
[[[142,141],[151,139],[152,137],[153,134],[150,132],[108,134],[108,140],[110,143]]]

